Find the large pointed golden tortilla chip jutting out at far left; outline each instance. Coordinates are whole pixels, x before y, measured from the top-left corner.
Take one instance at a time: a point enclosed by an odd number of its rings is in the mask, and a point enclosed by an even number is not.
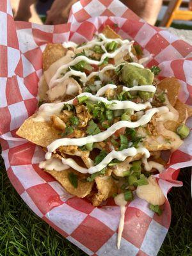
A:
[[[28,118],[16,132],[20,137],[41,147],[47,147],[52,141],[61,138],[60,131],[52,126],[51,122],[35,122],[35,115]]]

